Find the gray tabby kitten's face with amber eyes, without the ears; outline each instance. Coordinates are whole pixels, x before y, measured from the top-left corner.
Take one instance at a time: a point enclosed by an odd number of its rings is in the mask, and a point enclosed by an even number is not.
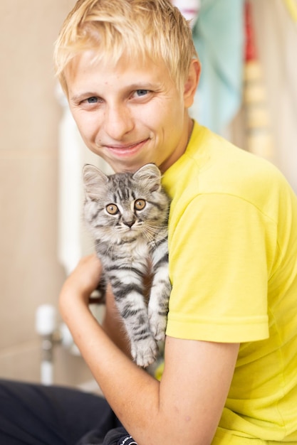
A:
[[[140,234],[150,238],[164,227],[168,198],[160,188],[160,178],[156,182],[137,173],[92,174],[100,184],[93,182],[92,192],[87,192],[85,219],[95,238],[119,240]]]

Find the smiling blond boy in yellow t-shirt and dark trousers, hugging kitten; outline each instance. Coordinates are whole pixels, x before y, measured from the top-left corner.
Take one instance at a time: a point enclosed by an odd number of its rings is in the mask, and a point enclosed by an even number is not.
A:
[[[200,67],[187,22],[168,0],[79,0],[55,65],[88,148],[115,171],[155,162],[172,198],[160,382],[130,360],[112,294],[102,327],[90,313],[98,259],[82,259],[61,291],[62,316],[128,431],[104,444],[296,443],[296,196],[271,164],[189,117]],[[71,394],[55,392],[76,428],[71,443],[103,443],[110,407]],[[65,415],[53,417],[65,437]]]

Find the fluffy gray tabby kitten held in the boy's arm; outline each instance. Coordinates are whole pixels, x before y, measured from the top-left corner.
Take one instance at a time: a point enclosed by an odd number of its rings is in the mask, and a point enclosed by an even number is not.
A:
[[[167,222],[170,200],[153,163],[135,173],[105,175],[83,168],[84,218],[103,264],[100,291],[109,281],[137,365],[155,361],[165,339],[168,300]],[[151,274],[148,303],[144,280]]]

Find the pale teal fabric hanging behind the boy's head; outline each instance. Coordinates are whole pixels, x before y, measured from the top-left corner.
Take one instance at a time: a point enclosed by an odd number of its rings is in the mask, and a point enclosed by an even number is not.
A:
[[[241,104],[244,36],[244,0],[202,0],[193,28],[202,75],[190,112],[213,132],[222,134]]]

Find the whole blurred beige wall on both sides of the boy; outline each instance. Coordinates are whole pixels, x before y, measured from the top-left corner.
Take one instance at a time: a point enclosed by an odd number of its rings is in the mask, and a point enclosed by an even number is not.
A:
[[[224,1],[224,0],[220,0]],[[0,2],[0,377],[39,380],[40,304],[57,305],[58,126],[53,42],[74,0]],[[297,191],[297,29],[281,0],[253,0],[273,161]],[[227,130],[244,144],[239,110]],[[56,348],[55,382],[90,379],[80,357]]]

